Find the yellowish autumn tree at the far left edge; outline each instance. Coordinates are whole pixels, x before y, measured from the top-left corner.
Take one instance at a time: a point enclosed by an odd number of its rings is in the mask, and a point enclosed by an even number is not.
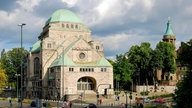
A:
[[[2,92],[2,88],[6,87],[6,85],[7,85],[7,76],[0,64],[0,94]]]

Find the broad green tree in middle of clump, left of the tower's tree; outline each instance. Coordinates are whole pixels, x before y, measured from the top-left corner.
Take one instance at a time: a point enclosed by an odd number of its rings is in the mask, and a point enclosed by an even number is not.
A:
[[[152,52],[153,50],[150,47],[150,43],[143,42],[140,46],[132,46],[131,49],[126,53],[128,62],[132,64],[131,70],[134,72],[134,82],[138,82],[138,84],[148,84],[152,73],[150,67]]]

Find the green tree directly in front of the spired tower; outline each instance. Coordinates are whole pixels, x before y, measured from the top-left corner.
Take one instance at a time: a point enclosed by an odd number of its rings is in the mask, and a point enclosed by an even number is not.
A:
[[[159,67],[162,66],[163,74],[164,72],[174,73],[176,70],[176,62],[175,62],[175,47],[168,42],[159,42],[156,46],[156,49],[161,56]],[[163,63],[161,65],[161,62]]]

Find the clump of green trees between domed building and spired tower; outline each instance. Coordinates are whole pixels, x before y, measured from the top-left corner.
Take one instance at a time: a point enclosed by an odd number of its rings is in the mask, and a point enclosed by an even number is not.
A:
[[[156,70],[175,72],[175,47],[168,42],[159,42],[153,50],[150,43],[135,45],[125,54],[116,56],[113,63],[114,79],[124,86],[133,81],[134,84],[149,84],[156,82]]]

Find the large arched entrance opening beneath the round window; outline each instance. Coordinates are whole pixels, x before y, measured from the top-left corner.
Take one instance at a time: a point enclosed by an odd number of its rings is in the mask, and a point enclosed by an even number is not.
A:
[[[77,90],[94,90],[94,83],[90,78],[80,78],[77,82]]]

